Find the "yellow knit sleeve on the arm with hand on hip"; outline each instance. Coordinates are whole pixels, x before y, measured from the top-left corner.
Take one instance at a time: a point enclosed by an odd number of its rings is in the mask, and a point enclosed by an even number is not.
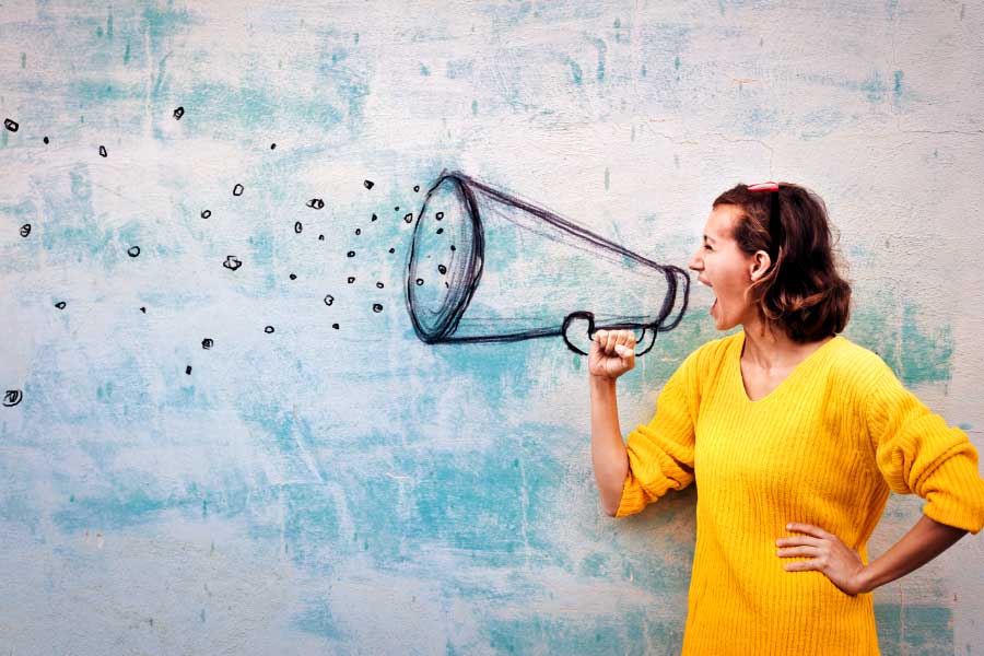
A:
[[[977,534],[984,527],[977,449],[879,364],[867,408],[878,469],[893,492],[925,499],[927,517]]]

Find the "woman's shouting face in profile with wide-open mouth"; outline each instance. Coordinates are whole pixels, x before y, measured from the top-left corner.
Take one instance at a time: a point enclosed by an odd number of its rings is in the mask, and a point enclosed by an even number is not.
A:
[[[711,211],[701,246],[689,265],[696,271],[698,281],[714,292],[711,316],[718,330],[728,330],[757,316],[746,292],[753,277],[761,274],[761,255],[757,258],[745,254],[731,236],[738,212],[739,209],[731,204],[719,204]]]

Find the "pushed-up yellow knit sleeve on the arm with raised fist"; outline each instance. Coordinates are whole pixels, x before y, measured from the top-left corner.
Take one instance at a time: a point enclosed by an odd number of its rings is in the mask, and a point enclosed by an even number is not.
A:
[[[699,352],[691,353],[667,380],[653,420],[629,434],[629,473],[616,517],[639,513],[667,491],[682,490],[693,481]]]

